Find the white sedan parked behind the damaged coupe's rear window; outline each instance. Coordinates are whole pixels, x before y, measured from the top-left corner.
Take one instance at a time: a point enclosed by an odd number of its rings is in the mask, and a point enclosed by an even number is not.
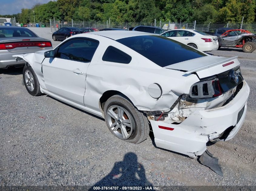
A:
[[[218,37],[211,36],[199,30],[174,29],[162,33],[161,36],[177,40],[203,52],[217,50],[219,48]]]

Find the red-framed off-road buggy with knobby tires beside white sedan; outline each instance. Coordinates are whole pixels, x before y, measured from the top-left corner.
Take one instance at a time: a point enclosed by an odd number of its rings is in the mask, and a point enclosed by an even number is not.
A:
[[[252,53],[256,49],[256,34],[248,30],[227,30],[218,36],[219,48],[221,46],[242,48],[245,53]]]

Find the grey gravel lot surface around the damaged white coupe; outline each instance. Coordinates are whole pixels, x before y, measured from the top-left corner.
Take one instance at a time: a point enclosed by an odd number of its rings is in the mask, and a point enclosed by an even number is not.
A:
[[[49,28],[33,30],[51,39]],[[256,52],[222,48],[210,54],[239,56],[251,88],[238,134],[208,147],[224,177],[156,148],[152,132],[138,145],[127,143],[94,115],[47,95],[31,96],[21,84],[22,68],[11,68],[0,70],[0,185],[256,185]]]

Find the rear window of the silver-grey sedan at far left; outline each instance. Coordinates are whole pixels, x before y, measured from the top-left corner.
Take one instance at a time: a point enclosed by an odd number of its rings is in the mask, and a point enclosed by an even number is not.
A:
[[[5,37],[37,37],[35,33],[26,28],[1,27],[0,38]]]

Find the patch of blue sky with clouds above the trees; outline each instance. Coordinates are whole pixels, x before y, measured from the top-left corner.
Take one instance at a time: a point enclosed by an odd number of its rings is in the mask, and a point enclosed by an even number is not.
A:
[[[48,3],[50,0],[0,0],[0,14],[17,14],[22,8],[32,8],[33,5]]]

